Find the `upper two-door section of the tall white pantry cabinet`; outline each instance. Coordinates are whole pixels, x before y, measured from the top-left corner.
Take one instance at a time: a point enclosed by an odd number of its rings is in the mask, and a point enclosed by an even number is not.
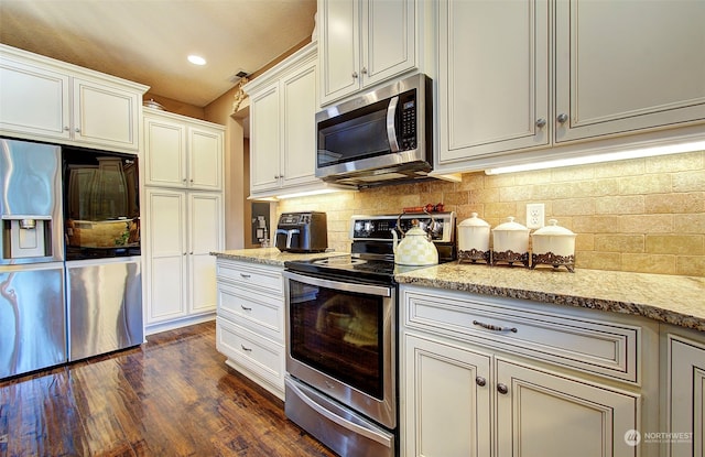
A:
[[[144,108],[145,184],[220,191],[224,134],[223,126]]]

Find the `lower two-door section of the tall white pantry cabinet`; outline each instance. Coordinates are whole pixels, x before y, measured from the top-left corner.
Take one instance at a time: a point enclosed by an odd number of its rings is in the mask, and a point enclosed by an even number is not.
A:
[[[147,330],[213,318],[223,195],[145,188]]]

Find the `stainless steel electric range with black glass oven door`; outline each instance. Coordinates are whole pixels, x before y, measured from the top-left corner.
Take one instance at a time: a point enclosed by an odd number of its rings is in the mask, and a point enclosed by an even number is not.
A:
[[[286,262],[286,416],[341,456],[395,456],[398,301],[391,230],[417,224],[455,259],[455,214],[354,216],[351,254]]]

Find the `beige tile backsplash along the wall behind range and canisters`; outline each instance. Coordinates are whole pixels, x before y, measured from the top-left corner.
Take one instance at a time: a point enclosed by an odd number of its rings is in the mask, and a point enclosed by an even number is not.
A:
[[[322,210],[328,246],[349,251],[355,214],[397,214],[443,203],[458,221],[477,213],[492,227],[527,204],[577,233],[576,268],[705,276],[705,151],[595,165],[433,181],[295,198],[278,213]]]

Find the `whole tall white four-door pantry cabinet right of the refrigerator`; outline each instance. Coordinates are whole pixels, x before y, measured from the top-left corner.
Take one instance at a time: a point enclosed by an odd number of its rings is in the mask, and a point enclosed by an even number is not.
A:
[[[144,108],[147,333],[213,318],[225,128]]]

